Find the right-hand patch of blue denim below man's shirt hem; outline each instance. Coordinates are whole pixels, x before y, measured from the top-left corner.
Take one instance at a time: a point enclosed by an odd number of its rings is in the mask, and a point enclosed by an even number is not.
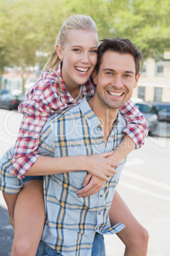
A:
[[[92,253],[91,256],[105,256],[105,242],[103,235],[96,232],[95,238],[93,241]]]

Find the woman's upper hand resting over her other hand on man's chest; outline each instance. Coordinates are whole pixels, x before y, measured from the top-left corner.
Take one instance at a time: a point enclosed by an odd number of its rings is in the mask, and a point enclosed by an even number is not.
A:
[[[101,180],[108,181],[110,177],[117,173],[114,167],[119,167],[118,162],[106,158],[113,153],[113,151],[110,151],[96,155],[88,155],[86,161],[86,171],[95,175]]]

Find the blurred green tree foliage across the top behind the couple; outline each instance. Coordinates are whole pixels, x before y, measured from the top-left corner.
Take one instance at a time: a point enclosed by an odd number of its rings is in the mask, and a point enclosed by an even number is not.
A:
[[[154,57],[170,50],[169,13],[169,0],[1,0],[0,71],[37,61],[44,66],[62,23],[73,14],[91,16],[100,39],[126,37],[144,57]]]

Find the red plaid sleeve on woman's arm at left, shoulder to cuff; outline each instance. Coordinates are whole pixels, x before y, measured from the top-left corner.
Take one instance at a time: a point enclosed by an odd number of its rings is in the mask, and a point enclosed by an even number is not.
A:
[[[42,73],[18,107],[23,114],[13,153],[11,173],[23,178],[39,157],[39,136],[49,115],[67,107],[58,97],[58,83],[53,73]]]

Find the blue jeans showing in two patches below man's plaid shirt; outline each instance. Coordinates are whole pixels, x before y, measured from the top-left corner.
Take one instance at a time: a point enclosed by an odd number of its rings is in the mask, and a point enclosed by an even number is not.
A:
[[[36,256],[62,256],[62,254],[56,252],[53,248],[46,245],[43,241],[39,242],[38,250]],[[101,234],[96,233],[95,239],[93,241],[91,256],[105,256],[105,243],[104,238]]]

